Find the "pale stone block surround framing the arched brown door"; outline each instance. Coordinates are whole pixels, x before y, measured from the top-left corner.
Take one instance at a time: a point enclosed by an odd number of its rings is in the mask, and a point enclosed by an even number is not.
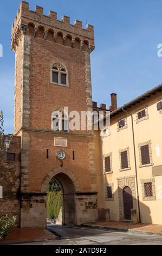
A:
[[[119,218],[124,220],[124,202],[122,191],[125,187],[131,188],[132,197],[133,197],[133,209],[137,210],[137,199],[135,194],[135,175],[125,176],[117,178],[118,181],[118,196],[119,196]]]

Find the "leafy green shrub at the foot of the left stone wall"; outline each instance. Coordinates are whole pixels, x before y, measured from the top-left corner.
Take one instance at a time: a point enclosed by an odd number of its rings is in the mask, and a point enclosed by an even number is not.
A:
[[[9,229],[15,224],[16,217],[13,214],[5,214],[0,217],[0,240],[5,239]]]

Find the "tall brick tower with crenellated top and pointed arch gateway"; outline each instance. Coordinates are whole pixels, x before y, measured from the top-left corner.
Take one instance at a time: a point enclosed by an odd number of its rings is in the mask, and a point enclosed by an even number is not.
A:
[[[12,26],[15,64],[14,134],[21,136],[21,227],[46,226],[49,181],[62,188],[63,224],[97,218],[93,131],[54,131],[54,111],[92,111],[93,26],[43,15],[21,2]],[[65,120],[64,120],[65,121]],[[63,166],[56,158],[63,150]]]

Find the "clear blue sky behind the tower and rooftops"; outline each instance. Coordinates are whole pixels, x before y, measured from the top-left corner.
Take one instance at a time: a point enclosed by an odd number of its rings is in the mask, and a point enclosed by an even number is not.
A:
[[[94,25],[95,51],[91,56],[93,100],[110,105],[112,92],[118,93],[118,105],[132,100],[162,82],[161,0],[32,0],[35,5],[81,20],[83,27]],[[0,109],[4,112],[5,132],[12,132],[14,113],[15,54],[10,51],[11,25],[20,1],[1,1]]]

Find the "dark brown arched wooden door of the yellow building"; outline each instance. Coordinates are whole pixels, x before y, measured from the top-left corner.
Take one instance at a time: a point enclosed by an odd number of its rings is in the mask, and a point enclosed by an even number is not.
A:
[[[125,187],[123,190],[124,216],[125,220],[131,220],[131,209],[133,209],[133,197],[131,188]]]

